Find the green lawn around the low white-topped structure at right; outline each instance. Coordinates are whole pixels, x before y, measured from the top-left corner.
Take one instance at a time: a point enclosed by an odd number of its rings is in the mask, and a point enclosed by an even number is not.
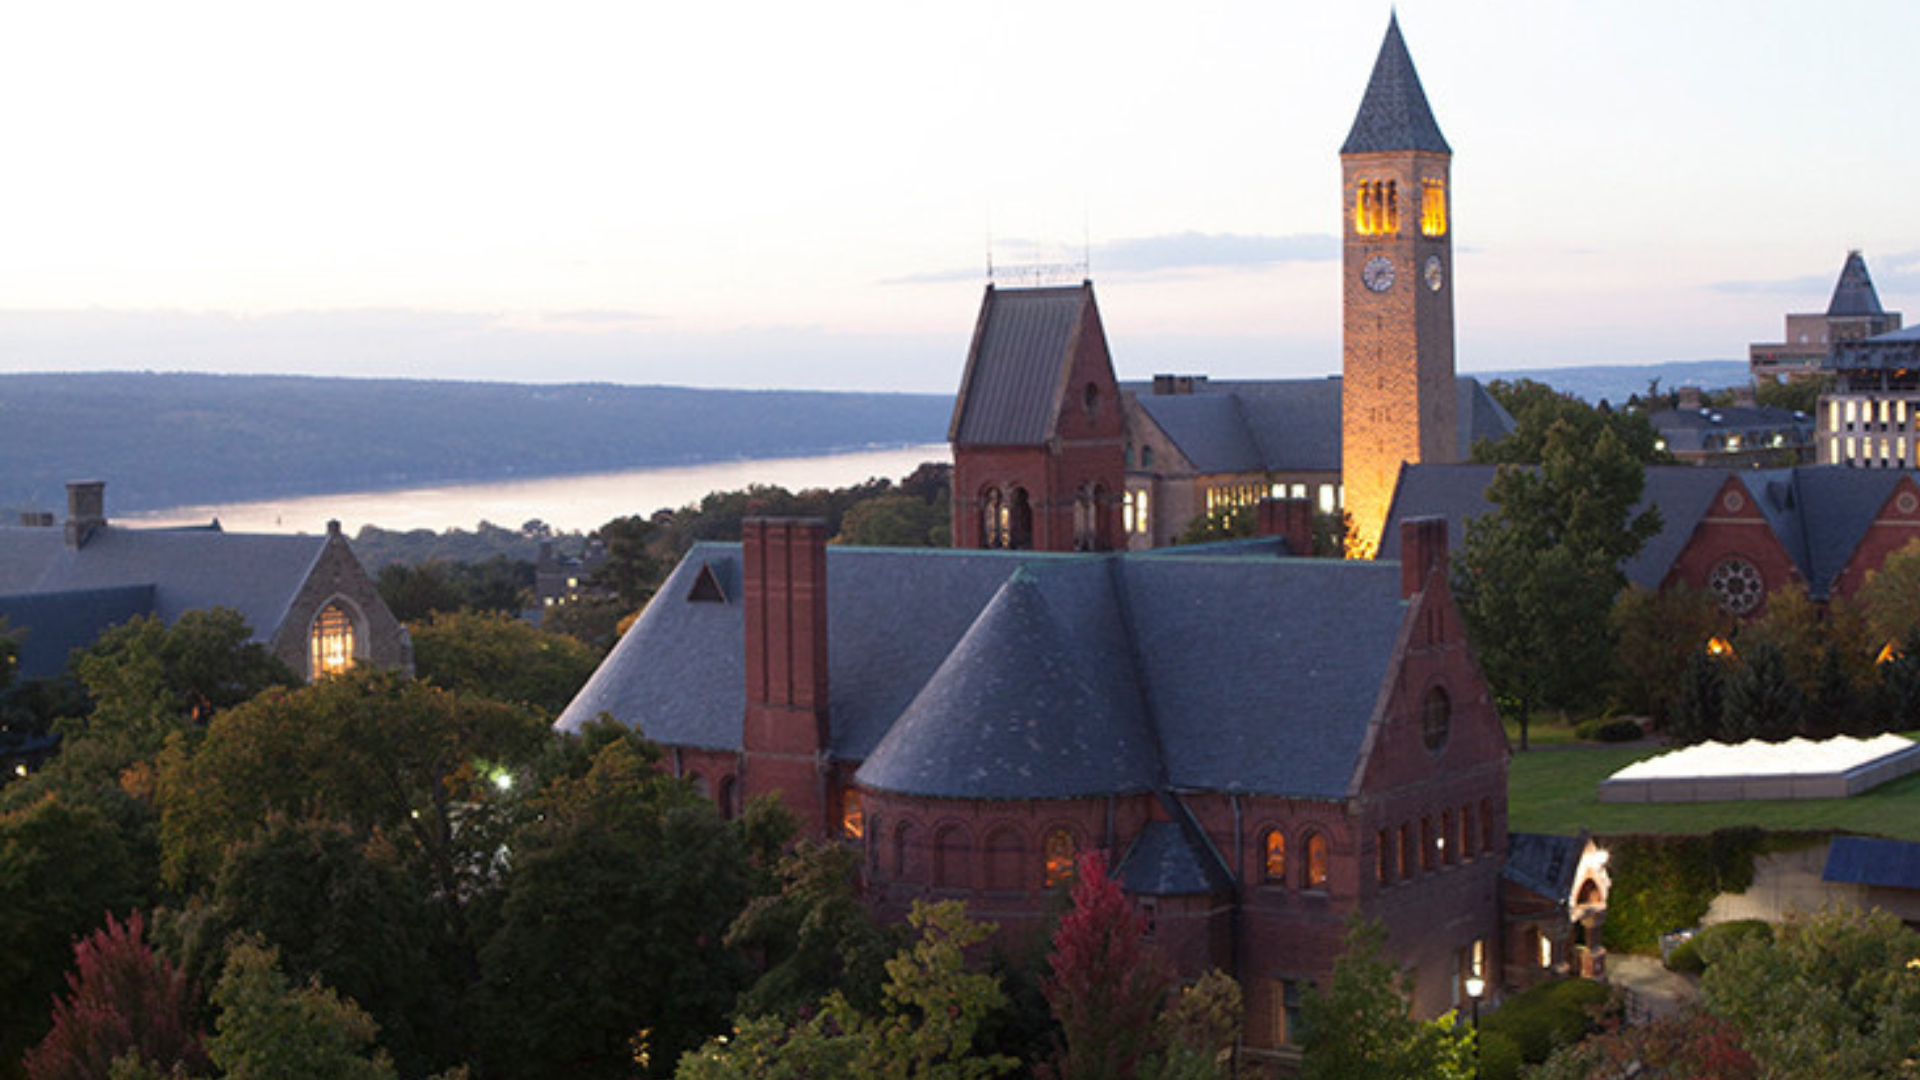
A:
[[[1507,773],[1509,828],[1624,834],[1713,832],[1730,824],[1757,824],[1774,830],[1839,830],[1920,840],[1920,773],[1851,799],[1634,805],[1601,803],[1596,798],[1599,780],[1630,761],[1659,751],[1647,746],[1515,751]]]

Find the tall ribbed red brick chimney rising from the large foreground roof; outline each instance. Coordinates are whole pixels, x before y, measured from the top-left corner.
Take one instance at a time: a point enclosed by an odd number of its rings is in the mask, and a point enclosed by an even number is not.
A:
[[[749,517],[745,563],[747,715],[741,794],[780,792],[803,836],[828,821],[828,527]]]

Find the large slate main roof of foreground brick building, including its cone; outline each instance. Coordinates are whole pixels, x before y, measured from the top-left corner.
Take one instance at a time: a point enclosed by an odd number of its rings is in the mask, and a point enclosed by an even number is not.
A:
[[[1405,601],[1384,563],[828,550],[829,751],[927,798],[1158,786],[1342,798]],[[601,711],[741,748],[741,596],[691,601],[701,544],[557,726]],[[1279,613],[1286,617],[1281,619]]]

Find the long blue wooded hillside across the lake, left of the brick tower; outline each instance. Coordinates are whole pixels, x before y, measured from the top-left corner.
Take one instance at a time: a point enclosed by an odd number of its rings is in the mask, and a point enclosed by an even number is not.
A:
[[[0,505],[108,511],[943,442],[947,394],[0,375]]]

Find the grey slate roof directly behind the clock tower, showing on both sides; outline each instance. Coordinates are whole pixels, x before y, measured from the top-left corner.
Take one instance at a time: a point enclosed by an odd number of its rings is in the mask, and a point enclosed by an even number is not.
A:
[[[1123,382],[1140,409],[1200,473],[1340,471],[1340,379],[1206,380],[1192,394]],[[1461,452],[1500,440],[1513,417],[1480,386],[1455,379]]]

